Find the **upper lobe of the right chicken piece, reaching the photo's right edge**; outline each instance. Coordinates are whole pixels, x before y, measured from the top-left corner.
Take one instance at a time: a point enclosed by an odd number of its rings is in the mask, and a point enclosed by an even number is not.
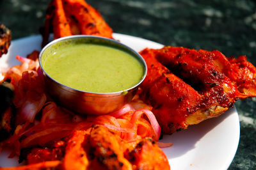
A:
[[[242,93],[238,96],[239,98],[251,95],[254,97],[256,94],[256,68],[252,63],[246,61],[246,56],[239,56],[235,59],[234,57],[226,58],[218,50],[165,47],[159,51],[156,58],[170,70],[176,73],[180,72],[184,79],[194,77],[191,83],[194,86],[203,86],[199,87],[199,90],[207,91],[212,88],[214,83],[218,84],[226,76],[233,84],[236,84],[236,88]],[[221,77],[221,73],[224,75],[223,77]]]

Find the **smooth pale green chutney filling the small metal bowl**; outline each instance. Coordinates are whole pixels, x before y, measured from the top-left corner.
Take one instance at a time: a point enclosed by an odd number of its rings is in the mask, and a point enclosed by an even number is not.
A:
[[[97,43],[70,43],[43,63],[45,72],[68,87],[94,93],[122,91],[141,81],[143,65],[124,50]]]

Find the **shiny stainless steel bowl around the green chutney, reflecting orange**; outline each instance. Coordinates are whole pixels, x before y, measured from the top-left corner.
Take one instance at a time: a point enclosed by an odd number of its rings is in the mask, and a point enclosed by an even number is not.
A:
[[[138,58],[138,60],[144,66],[144,74],[141,81],[129,89],[125,89],[124,91],[116,91],[113,93],[92,93],[88,91],[81,91],[78,89],[70,88],[64,84],[61,84],[60,82],[55,81],[44,70],[43,65],[45,58],[51,56],[53,52],[58,50],[58,47],[61,47],[61,44],[67,44],[74,41],[83,43],[106,44],[129,52],[129,54],[135,58]],[[47,44],[40,52],[39,63],[44,73],[47,90],[51,97],[54,98],[54,100],[63,107],[66,107],[67,109],[78,112],[80,114],[99,115],[107,114],[109,112],[120,109],[124,104],[127,104],[131,101],[132,97],[134,97],[136,94],[138,86],[141,84],[141,82],[143,82],[147,75],[147,65],[140,54],[138,54],[138,52],[135,52],[131,48],[120,42],[117,42],[116,40],[102,38],[99,36],[75,35],[54,40]]]

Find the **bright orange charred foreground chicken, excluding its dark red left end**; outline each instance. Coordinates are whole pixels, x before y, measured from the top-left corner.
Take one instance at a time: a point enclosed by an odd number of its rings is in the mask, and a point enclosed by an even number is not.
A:
[[[89,132],[90,131],[90,132]],[[156,156],[152,160],[152,156]],[[122,140],[108,128],[96,125],[77,130],[68,140],[63,169],[170,169],[164,152],[151,139]]]

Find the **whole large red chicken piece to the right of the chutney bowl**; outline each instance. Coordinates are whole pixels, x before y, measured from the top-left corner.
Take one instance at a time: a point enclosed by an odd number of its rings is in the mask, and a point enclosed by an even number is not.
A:
[[[148,73],[141,97],[153,106],[164,134],[227,111],[238,99],[256,97],[255,67],[244,56],[183,47],[140,52]]]

